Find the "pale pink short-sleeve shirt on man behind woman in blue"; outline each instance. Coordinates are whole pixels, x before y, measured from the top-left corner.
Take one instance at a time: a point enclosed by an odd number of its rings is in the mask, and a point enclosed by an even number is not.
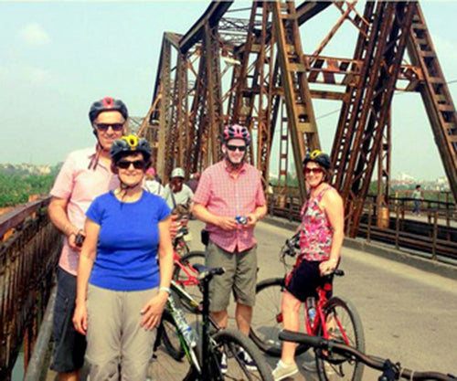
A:
[[[88,169],[95,153],[95,147],[69,153],[50,191],[51,196],[68,200],[67,215],[77,228],[84,227],[85,214],[92,200],[119,185],[117,175],[101,162],[95,170]],[[58,266],[76,275],[78,255],[77,251],[69,249],[68,238],[64,236]]]

